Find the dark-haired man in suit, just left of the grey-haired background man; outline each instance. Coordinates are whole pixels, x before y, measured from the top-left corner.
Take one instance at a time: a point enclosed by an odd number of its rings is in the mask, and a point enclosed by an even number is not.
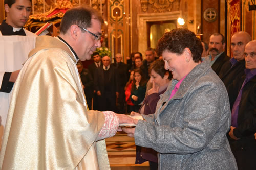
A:
[[[94,80],[94,75],[95,75],[96,69],[97,69],[98,67],[103,68],[103,65],[102,65],[102,63],[101,63],[101,57],[100,57],[100,55],[99,55],[98,52],[94,52],[94,53],[92,54],[92,56],[93,56],[93,61],[94,61],[94,63],[92,63],[91,65],[89,65],[88,70],[89,70],[89,72],[90,72],[90,74],[91,74],[91,77],[92,77],[93,80]],[[95,87],[95,85],[94,85],[94,87]],[[93,94],[93,100],[92,100],[92,102],[93,102],[93,110],[99,110],[99,97],[98,97],[98,95],[96,94],[96,90],[95,90],[94,87],[93,87],[93,93],[94,93],[94,94]]]

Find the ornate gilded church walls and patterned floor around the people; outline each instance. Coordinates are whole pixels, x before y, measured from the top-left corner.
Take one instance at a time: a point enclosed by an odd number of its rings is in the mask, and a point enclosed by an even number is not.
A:
[[[117,53],[123,62],[133,52],[144,54],[156,48],[158,39],[174,28],[187,28],[205,43],[213,33],[226,38],[226,54],[231,57],[233,33],[246,31],[256,38],[255,0],[32,0],[32,12],[24,26],[39,35],[58,35],[65,12],[79,5],[91,6],[101,13],[102,47]],[[4,1],[0,2],[0,21],[5,19]],[[84,61],[85,68],[93,63]],[[3,133],[3,132],[2,132]],[[148,169],[148,162],[135,164],[133,138],[118,132],[106,139],[111,169]]]

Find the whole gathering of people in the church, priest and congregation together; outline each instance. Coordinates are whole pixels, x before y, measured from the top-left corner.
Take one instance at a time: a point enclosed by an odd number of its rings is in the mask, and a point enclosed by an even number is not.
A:
[[[118,130],[135,138],[136,163],[150,169],[255,169],[256,40],[248,33],[232,35],[232,58],[222,34],[206,44],[178,28],[145,60],[136,52],[125,64],[115,54],[111,64],[95,52],[103,23],[96,10],[72,8],[59,36],[36,37],[23,29],[31,0],[5,7],[1,169],[110,169],[103,139]]]

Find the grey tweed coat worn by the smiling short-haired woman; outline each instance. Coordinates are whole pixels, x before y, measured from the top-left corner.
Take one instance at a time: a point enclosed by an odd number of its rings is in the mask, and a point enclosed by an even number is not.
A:
[[[169,100],[177,80],[170,82],[155,114],[143,115],[135,143],[153,148],[159,169],[237,169],[226,133],[231,113],[226,88],[204,61],[189,72]]]

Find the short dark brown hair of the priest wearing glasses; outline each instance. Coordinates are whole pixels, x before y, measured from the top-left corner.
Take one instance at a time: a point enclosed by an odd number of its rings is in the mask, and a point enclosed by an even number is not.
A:
[[[72,25],[82,28],[91,27],[91,20],[95,19],[103,23],[103,19],[95,9],[86,6],[79,6],[69,9],[63,16],[60,24],[60,33],[65,34]]]

